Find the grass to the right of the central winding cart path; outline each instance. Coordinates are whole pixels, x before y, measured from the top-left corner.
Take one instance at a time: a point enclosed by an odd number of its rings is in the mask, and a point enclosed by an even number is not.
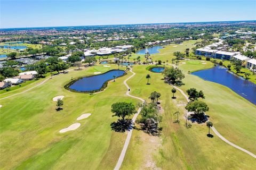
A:
[[[207,114],[215,128],[231,142],[255,153],[255,105],[226,87],[187,74],[188,71],[212,67],[212,63],[182,62],[187,64],[179,64],[186,73],[185,86],[181,88],[186,90],[194,87],[203,90],[205,102],[210,107]],[[141,139],[143,132],[135,131],[122,169],[152,169],[155,166],[162,169],[251,169],[256,166],[254,158],[227,145],[217,136],[208,138],[205,124],[193,123],[191,129],[186,129],[185,120],[182,118],[185,114],[185,98],[177,91],[177,99],[172,99],[172,87],[161,80],[163,75],[146,71],[146,67],[134,66],[133,71],[137,75],[127,83],[135,89],[132,90],[132,95],[142,97],[148,102],[150,92],[156,90],[162,94],[160,100],[164,109],[161,124],[163,132],[160,141],[155,141],[153,137],[145,141]],[[146,85],[147,73],[151,75],[150,85]],[[180,124],[173,123],[176,118],[173,113],[176,111],[180,111]],[[148,148],[148,145],[151,147]],[[150,149],[153,150],[151,155],[147,154]]]

